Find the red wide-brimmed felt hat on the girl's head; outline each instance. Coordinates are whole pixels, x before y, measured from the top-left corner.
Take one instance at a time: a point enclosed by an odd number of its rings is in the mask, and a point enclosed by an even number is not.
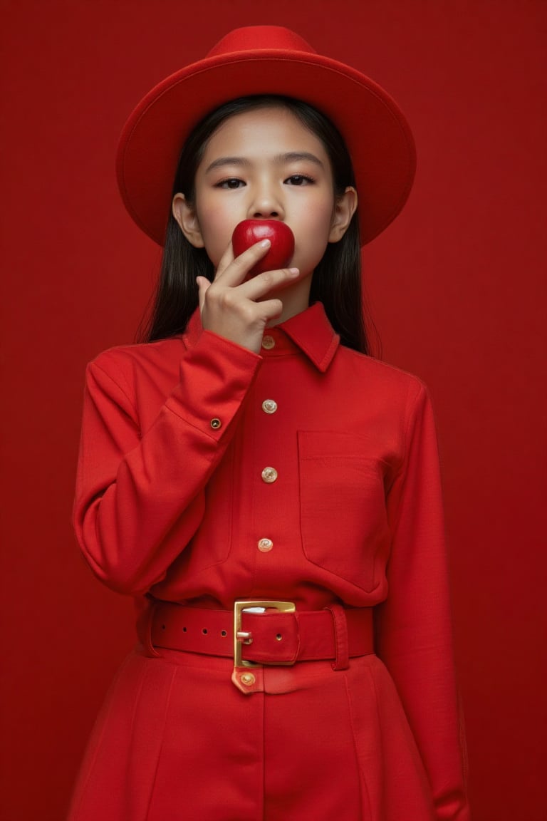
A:
[[[353,160],[364,245],[394,220],[413,184],[413,135],[381,86],[322,57],[276,25],[235,29],[203,60],[176,71],[141,100],[125,123],[116,160],[125,207],[163,245],[180,151],[190,131],[222,103],[280,94],[309,103],[338,127]]]

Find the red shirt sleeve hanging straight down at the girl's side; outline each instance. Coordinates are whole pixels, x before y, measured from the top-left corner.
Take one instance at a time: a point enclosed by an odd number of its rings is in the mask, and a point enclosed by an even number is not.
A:
[[[399,690],[439,821],[467,821],[439,459],[425,388],[409,401],[407,452],[391,488],[389,592],[377,611],[378,655]]]

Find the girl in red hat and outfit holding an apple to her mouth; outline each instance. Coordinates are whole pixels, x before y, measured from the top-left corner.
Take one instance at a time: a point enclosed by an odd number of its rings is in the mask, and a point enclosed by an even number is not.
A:
[[[468,819],[431,408],[362,323],[359,232],[413,172],[385,91],[274,26],[125,126],[165,249],[146,342],[89,365],[75,527],[140,643],[71,821]],[[290,227],[289,267],[235,256],[248,219]]]

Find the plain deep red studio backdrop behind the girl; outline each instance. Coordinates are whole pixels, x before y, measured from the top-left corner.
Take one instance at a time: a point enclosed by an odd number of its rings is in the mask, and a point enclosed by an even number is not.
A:
[[[547,3],[0,7],[2,819],[63,818],[133,641],[70,524],[84,365],[133,338],[158,259],[117,195],[117,137],[153,83],[265,22],[369,73],[413,126],[416,187],[367,286],[385,360],[435,401],[475,821],[545,818]]]

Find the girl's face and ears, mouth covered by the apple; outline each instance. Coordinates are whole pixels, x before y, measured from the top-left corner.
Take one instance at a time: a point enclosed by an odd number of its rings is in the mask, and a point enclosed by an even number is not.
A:
[[[326,245],[344,236],[357,195],[335,199],[330,160],[319,138],[286,108],[230,117],[208,141],[195,179],[195,200],[175,195],[185,236],[217,265],[244,219],[280,219],[294,233],[290,264],[310,277]]]

